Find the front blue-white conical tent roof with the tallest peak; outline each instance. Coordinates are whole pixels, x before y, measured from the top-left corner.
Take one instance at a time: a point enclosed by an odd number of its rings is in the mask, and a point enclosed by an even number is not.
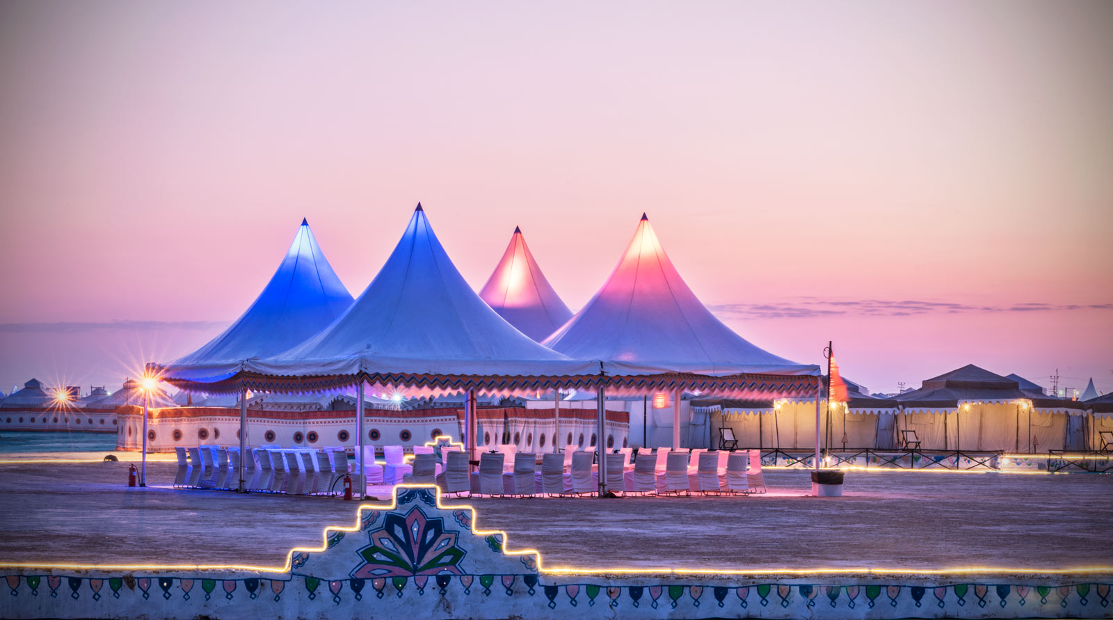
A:
[[[279,377],[392,374],[392,382],[443,385],[430,377],[589,375],[599,365],[545,348],[491,309],[456,270],[417,205],[386,264],[347,312],[247,370]]]

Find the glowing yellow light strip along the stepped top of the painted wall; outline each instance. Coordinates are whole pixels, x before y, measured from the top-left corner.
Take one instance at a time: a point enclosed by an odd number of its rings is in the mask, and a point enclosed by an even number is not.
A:
[[[443,504],[441,502],[440,488],[432,484],[397,484],[394,486],[394,495],[388,504],[370,504],[362,503],[356,510],[355,524],[352,526],[344,525],[328,525],[322,533],[322,543],[319,547],[296,547],[290,549],[286,553],[286,561],[280,565],[252,565],[252,564],[79,564],[79,563],[42,563],[42,562],[0,562],[0,568],[10,569],[41,569],[41,570],[53,570],[53,569],[72,569],[72,570],[155,570],[155,571],[167,571],[167,570],[197,570],[197,571],[227,571],[227,570],[243,570],[243,571],[256,571],[265,573],[287,573],[293,568],[293,558],[296,553],[321,553],[328,549],[328,533],[329,532],[358,532],[363,523],[363,512],[377,510],[377,511],[390,511],[397,505],[397,489],[429,489],[432,490],[436,498],[436,506],[441,510],[469,510],[473,514],[471,522],[471,531],[473,534],[479,537],[486,537],[491,534],[502,535],[502,549],[506,555],[524,555],[524,554],[535,554],[538,559],[538,571],[541,573],[549,574],[643,574],[643,575],[657,575],[662,573],[668,574],[703,574],[703,575],[743,575],[743,577],[756,577],[756,575],[809,575],[809,574],[908,574],[908,575],[967,575],[975,573],[984,574],[1038,574],[1038,575],[1084,575],[1084,574],[1110,574],[1113,573],[1113,565],[1097,565],[1097,567],[1076,567],[1068,569],[1032,569],[1023,567],[955,567],[947,569],[909,569],[909,568],[871,568],[871,567],[817,567],[809,569],[791,569],[791,568],[777,568],[777,569],[684,569],[684,568],[580,568],[580,567],[552,567],[545,568],[542,563],[541,552],[535,549],[520,549],[510,550],[506,548],[506,543],[510,540],[508,533],[503,530],[480,530],[475,526],[475,522],[479,518],[479,512],[474,506],[470,504]]]

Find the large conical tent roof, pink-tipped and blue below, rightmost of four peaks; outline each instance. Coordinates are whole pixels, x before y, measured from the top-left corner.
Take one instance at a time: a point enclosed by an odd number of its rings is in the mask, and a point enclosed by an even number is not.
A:
[[[716,318],[680,277],[644,215],[607,283],[544,344],[603,360],[609,374],[817,371],[755,346]]]

